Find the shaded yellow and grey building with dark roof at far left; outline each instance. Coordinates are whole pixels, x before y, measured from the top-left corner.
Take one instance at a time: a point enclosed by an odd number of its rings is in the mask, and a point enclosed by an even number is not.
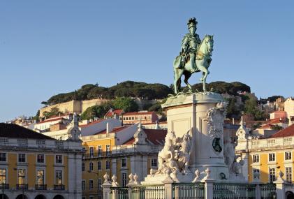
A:
[[[59,141],[15,124],[0,124],[3,198],[81,198],[81,162],[81,142]]]

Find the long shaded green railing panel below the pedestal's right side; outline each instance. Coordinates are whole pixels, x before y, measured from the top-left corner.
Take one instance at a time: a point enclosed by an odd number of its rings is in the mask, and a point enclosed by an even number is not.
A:
[[[214,183],[214,199],[253,199],[256,197],[255,184]]]

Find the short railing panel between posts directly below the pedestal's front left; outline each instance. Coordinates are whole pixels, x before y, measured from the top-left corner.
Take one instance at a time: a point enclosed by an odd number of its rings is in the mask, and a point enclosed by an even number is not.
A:
[[[205,184],[201,182],[196,183],[181,183],[172,185],[172,198],[205,198]]]

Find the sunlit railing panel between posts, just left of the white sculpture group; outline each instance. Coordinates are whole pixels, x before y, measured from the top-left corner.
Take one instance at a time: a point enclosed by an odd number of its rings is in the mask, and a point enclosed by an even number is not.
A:
[[[164,184],[132,187],[132,199],[164,199]]]

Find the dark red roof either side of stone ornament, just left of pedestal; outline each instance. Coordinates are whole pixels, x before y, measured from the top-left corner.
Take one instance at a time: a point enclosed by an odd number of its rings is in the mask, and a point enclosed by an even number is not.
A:
[[[166,133],[168,133],[167,130],[163,129],[147,129],[143,128],[143,131],[147,135],[147,141],[152,142],[154,145],[163,145],[164,140],[166,138]],[[123,145],[133,145],[133,142],[135,142],[135,138],[130,138],[126,142],[124,142]]]

